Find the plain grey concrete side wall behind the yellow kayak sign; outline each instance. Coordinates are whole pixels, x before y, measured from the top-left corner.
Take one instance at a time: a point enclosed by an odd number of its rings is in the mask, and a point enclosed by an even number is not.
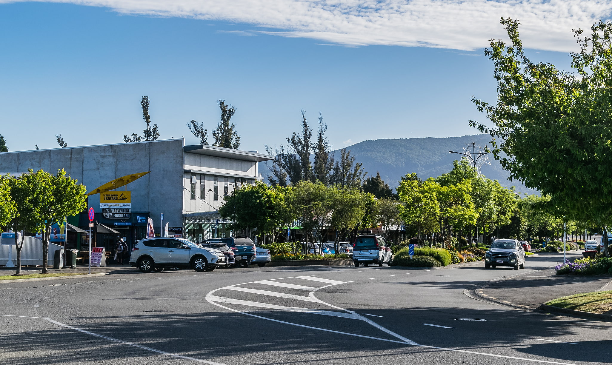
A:
[[[0,153],[0,172],[43,169],[55,174],[62,168],[88,191],[124,175],[151,171],[127,185],[132,212],[151,212],[155,227],[160,213],[164,224],[182,226],[182,139]],[[99,194],[89,197],[89,206],[101,212]]]

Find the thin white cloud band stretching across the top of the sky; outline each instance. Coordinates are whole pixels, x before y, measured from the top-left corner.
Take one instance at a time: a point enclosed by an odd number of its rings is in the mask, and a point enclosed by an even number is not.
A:
[[[18,2],[20,0],[0,0]],[[576,49],[570,29],[610,16],[612,0],[49,0],[133,15],[223,20],[266,34],[359,45],[473,51],[504,37],[500,17],[521,21],[523,44]],[[270,31],[268,29],[274,29]],[[244,34],[243,34],[244,35]],[[505,38],[505,37],[504,37]]]

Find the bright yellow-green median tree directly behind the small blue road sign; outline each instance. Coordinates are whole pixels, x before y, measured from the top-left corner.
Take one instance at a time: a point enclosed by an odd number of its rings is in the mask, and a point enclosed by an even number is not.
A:
[[[416,174],[408,174],[408,179],[401,179],[397,188],[400,197],[400,218],[407,224],[416,224],[419,245],[421,243],[421,228],[430,219],[439,214],[438,188],[439,184],[428,179],[419,185],[419,179],[411,179]]]

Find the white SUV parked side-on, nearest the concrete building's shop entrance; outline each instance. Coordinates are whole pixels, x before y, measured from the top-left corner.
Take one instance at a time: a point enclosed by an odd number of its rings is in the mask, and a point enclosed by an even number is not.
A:
[[[166,267],[212,271],[217,265],[225,265],[225,255],[218,249],[201,247],[184,238],[145,238],[137,241],[132,249],[130,265],[143,273],[159,272]]]

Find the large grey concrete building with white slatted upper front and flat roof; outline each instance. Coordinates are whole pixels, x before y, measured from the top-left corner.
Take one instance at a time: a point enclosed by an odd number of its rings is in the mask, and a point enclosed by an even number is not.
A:
[[[129,246],[144,237],[147,218],[151,217],[155,232],[170,225],[170,234],[199,240],[225,232],[230,223],[218,216],[223,196],[236,186],[261,180],[257,163],[272,160],[258,152],[225,149],[214,146],[184,146],[184,139],[105,144],[0,153],[2,174],[21,174],[43,169],[56,173],[64,169],[78,179],[88,191],[106,182],[129,174],[151,171],[138,180],[119,188],[131,191],[129,215],[108,218],[100,207],[100,194],[89,196],[88,205],[95,211],[98,223],[121,232]],[[110,210],[109,210],[110,212]],[[106,212],[105,212],[106,213]],[[129,218],[127,218],[129,216]],[[86,215],[72,217],[69,223],[86,228]],[[114,238],[113,238],[114,239]],[[114,245],[109,238],[104,246]],[[102,246],[98,243],[98,246]]]

